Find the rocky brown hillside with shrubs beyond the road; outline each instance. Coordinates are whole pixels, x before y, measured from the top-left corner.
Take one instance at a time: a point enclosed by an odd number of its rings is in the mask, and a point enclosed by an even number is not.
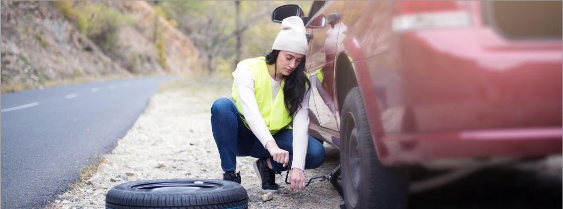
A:
[[[2,1],[2,93],[196,72],[198,50],[144,1]]]

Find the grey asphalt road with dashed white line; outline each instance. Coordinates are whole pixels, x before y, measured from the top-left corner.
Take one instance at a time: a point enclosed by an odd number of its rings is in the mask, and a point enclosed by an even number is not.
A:
[[[149,77],[2,95],[2,208],[40,208],[108,153],[148,105]]]

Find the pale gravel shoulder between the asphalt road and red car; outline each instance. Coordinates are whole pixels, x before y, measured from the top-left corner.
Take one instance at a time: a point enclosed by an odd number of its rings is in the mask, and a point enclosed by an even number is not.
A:
[[[91,174],[71,185],[46,208],[104,208],[105,194],[129,181],[177,178],[222,179],[219,154],[211,132],[211,104],[228,97],[231,81],[184,79],[160,86],[145,112],[115,149],[102,155]],[[306,177],[325,175],[338,164],[338,151],[325,144],[323,166],[307,170]],[[263,194],[252,168],[252,157],[238,157],[242,185],[248,194]],[[284,173],[285,175],[285,173]],[[311,183],[306,190],[289,192],[282,186],[271,201],[249,202],[249,208],[339,208],[342,198],[328,181]]]

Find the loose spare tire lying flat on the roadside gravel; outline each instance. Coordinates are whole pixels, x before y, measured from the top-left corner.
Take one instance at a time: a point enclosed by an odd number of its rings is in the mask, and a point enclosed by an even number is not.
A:
[[[246,189],[233,181],[159,179],[114,186],[106,209],[121,208],[247,208]]]

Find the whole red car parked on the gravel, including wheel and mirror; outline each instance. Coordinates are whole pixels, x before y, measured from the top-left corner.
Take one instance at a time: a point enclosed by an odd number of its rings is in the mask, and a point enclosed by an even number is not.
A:
[[[348,208],[562,152],[561,1],[315,1],[310,134],[340,150]],[[416,179],[413,167],[448,168]]]

